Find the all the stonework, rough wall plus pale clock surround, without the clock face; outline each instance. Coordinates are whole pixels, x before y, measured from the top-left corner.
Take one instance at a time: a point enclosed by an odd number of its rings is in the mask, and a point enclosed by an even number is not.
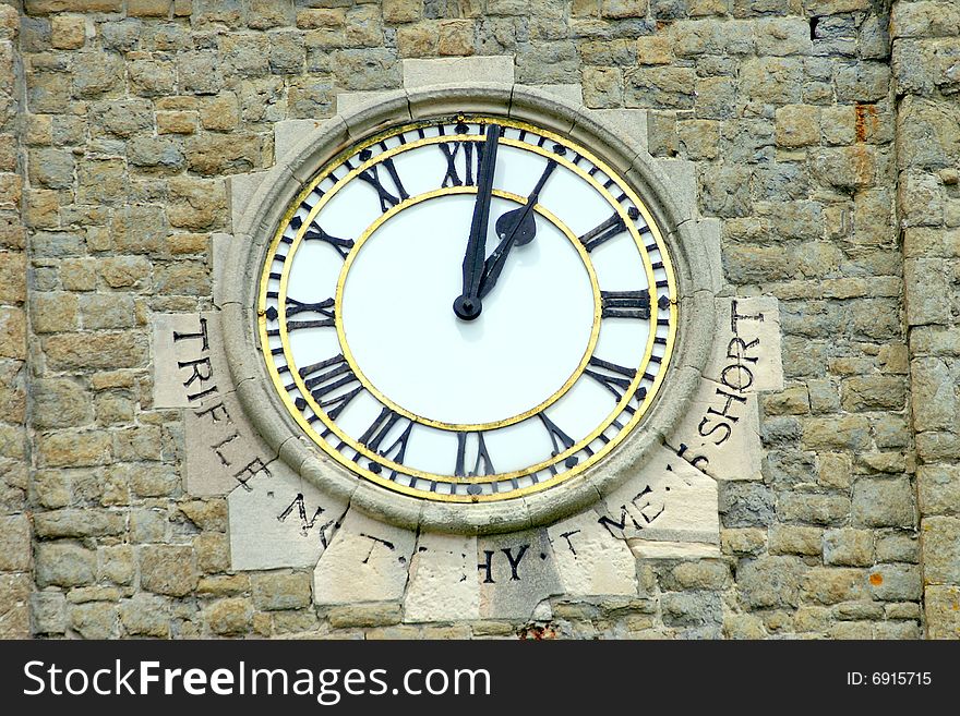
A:
[[[0,5],[0,635],[957,639],[958,93],[953,0]],[[243,330],[284,192],[430,108],[605,137],[697,317],[502,529],[284,432]]]

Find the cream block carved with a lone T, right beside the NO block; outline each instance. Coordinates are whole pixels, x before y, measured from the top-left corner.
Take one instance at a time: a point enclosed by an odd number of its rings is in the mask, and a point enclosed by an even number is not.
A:
[[[316,604],[399,602],[416,534],[353,509],[313,571]]]

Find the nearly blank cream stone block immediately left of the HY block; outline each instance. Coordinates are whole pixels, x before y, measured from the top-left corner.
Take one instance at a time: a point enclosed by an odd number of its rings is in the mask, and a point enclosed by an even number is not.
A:
[[[417,541],[404,599],[406,621],[480,618],[477,537],[424,532]]]

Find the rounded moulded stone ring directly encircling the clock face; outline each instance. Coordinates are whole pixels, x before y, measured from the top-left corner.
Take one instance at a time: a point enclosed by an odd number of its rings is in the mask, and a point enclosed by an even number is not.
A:
[[[664,441],[694,395],[711,351],[712,298],[718,281],[689,206],[675,203],[668,181],[646,149],[617,134],[603,113],[569,102],[543,89],[515,84],[432,85],[376,93],[367,101],[347,102],[341,114],[309,132],[277,165],[263,174],[233,226],[223,274],[223,340],[238,398],[266,442],[321,490],[361,511],[410,529],[485,534],[548,524],[596,502],[636,473],[647,452]],[[619,169],[643,196],[660,226],[671,227],[672,258],[679,293],[685,296],[674,349],[674,368],[661,387],[645,423],[602,464],[549,490],[525,498],[479,505],[447,505],[388,493],[358,481],[320,448],[300,437],[299,427],[279,396],[267,390],[269,376],[256,344],[255,291],[259,267],[276,226],[302,184],[324,163],[357,139],[394,123],[445,112],[495,112],[531,119],[548,130],[591,147],[605,146],[603,159]],[[609,117],[609,113],[607,114]],[[694,186],[695,190],[695,186]],[[697,310],[692,310],[696,306]],[[700,310],[703,308],[703,310]],[[670,400],[664,400],[665,395]]]

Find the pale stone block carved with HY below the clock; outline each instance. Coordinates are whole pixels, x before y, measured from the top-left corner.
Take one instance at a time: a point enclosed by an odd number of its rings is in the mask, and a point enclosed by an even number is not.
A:
[[[529,619],[563,591],[547,530],[481,537],[477,554],[481,618]]]

